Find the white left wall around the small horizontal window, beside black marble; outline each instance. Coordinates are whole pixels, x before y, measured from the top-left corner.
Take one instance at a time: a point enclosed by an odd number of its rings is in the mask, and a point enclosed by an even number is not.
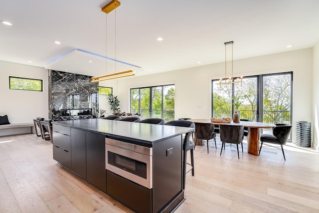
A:
[[[42,79],[43,92],[9,89],[9,76]],[[11,124],[48,118],[47,69],[0,61],[0,116],[3,115]]]

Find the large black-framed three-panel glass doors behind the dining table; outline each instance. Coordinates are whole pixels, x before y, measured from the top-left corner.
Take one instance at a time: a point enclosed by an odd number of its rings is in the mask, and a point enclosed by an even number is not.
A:
[[[242,83],[218,85],[212,80],[212,117],[232,117],[266,123],[292,121],[293,73],[244,77]]]

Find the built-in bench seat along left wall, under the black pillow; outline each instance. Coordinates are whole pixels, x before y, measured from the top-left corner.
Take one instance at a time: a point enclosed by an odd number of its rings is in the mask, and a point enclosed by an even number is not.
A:
[[[33,123],[0,125],[0,136],[26,134],[26,133],[35,134]]]

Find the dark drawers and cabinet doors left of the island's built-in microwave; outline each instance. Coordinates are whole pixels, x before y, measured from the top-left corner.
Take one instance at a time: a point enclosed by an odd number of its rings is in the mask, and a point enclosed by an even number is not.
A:
[[[53,159],[106,193],[105,135],[53,124]]]

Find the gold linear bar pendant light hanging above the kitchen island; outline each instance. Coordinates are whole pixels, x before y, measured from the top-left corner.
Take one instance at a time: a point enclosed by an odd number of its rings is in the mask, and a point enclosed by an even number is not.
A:
[[[102,11],[105,12],[106,14],[108,14],[109,12],[111,12],[112,10],[115,9],[115,71],[116,71],[116,7],[120,6],[121,2],[118,0],[111,0],[108,4],[106,4],[104,7],[102,7]],[[107,26],[107,21],[106,21],[106,26]],[[107,27],[106,27],[106,31],[107,31]],[[107,36],[106,36],[106,43],[107,43]],[[105,54],[107,52],[107,48],[105,45]],[[106,55],[106,67],[107,67],[107,55]],[[107,68],[106,68],[107,70]],[[122,78],[122,77],[127,77],[127,76],[132,76],[135,75],[135,70],[125,70],[125,71],[120,71],[120,72],[114,72],[114,73],[110,73],[110,74],[106,74],[106,75],[100,75],[100,76],[96,76],[96,77],[92,77],[92,82],[99,82],[99,81],[105,81],[105,80],[110,80],[110,79],[115,79],[115,78]]]

